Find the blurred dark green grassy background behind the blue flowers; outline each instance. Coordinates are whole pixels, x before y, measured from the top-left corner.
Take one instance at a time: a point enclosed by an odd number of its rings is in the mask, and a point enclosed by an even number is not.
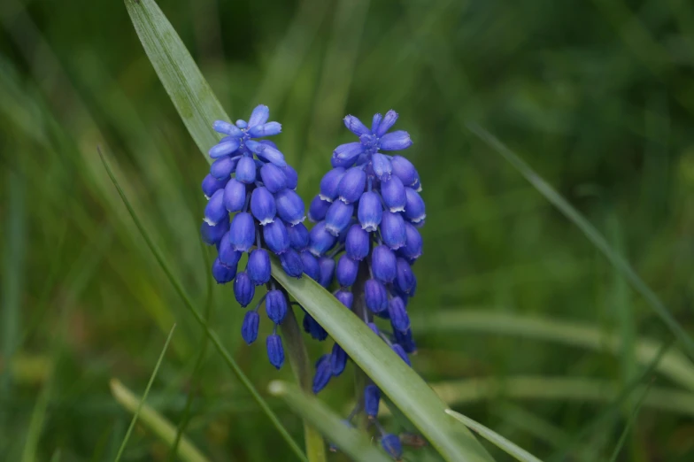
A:
[[[343,116],[399,112],[428,207],[410,308],[413,366],[454,409],[547,460],[608,460],[628,425],[616,460],[694,459],[694,367],[675,343],[644,373],[671,333],[582,232],[466,127],[480,124],[533,166],[692,332],[689,2],[159,5],[233,119],[270,106],[283,125],[274,141],[297,167],[307,204],[332,150],[351,141]],[[148,402],[176,425],[192,393],[187,435],[212,461],[293,460],[216,351],[194,373],[200,328],[127,215],[97,145],[251,381],[266,394],[269,381],[291,379],[289,367],[268,364],[263,345],[243,343],[231,288],[212,287],[212,254],[198,235],[208,165],[124,4],[3,0],[0,459],[113,460],[132,414],[109,381],[141,396],[176,322]],[[306,342],[312,358],[331,346]],[[351,373],[320,398],[345,414]],[[301,420],[268,400],[301,441]],[[124,460],[166,457],[150,429],[135,427]],[[407,450],[405,459],[436,456]]]

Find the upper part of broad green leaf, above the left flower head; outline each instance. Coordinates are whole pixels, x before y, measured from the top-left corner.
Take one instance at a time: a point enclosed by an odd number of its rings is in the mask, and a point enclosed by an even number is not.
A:
[[[207,152],[220,141],[217,119],[230,120],[195,61],[154,0],[125,0],[127,12],[159,80],[197,147]],[[212,159],[205,156],[208,162]]]

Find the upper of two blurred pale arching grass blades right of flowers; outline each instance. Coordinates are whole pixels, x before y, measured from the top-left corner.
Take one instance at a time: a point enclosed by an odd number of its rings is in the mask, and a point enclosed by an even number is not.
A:
[[[451,332],[488,332],[498,335],[519,335],[550,342],[621,353],[619,335],[603,332],[597,327],[577,322],[521,316],[513,313],[464,310],[432,310],[426,316],[412,316],[418,334]],[[635,343],[638,363],[649,365],[659,355],[659,344],[638,338]],[[656,370],[671,380],[694,391],[694,366],[679,350],[668,350],[657,363]]]

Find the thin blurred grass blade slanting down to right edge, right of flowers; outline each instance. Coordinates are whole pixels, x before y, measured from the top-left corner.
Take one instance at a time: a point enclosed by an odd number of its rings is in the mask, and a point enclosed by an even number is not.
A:
[[[526,180],[530,182],[551,204],[559,209],[567,219],[581,229],[583,235],[600,250],[605,258],[629,281],[634,289],[642,296],[646,302],[651,305],[652,309],[666,326],[672,331],[682,343],[682,346],[687,351],[691,358],[694,358],[694,341],[691,340],[687,332],[675,320],[673,315],[667,311],[665,305],[660,301],[659,297],[649,288],[646,283],[636,274],[636,271],[628,264],[628,261],[621,257],[615,251],[598,229],[590,224],[590,221],[582,216],[573,205],[559,195],[547,181],[544,181],[526,162],[521,159],[513,150],[508,149],[504,143],[500,142],[496,136],[491,135],[487,130],[477,124],[468,124],[467,128],[486,142],[490,147],[496,150],[503,158],[505,158]]]

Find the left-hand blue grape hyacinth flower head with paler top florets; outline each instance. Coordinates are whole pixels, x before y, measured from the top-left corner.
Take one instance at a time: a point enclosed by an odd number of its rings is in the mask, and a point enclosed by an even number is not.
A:
[[[268,250],[280,258],[284,271],[293,277],[305,272],[318,278],[319,266],[307,251],[309,233],[302,223],[304,202],[295,192],[297,172],[287,165],[274,142],[258,141],[281,132],[279,123],[267,122],[269,115],[267,106],[258,105],[248,122],[214,122],[214,130],[226,136],[209,151],[214,162],[203,180],[208,202],[201,234],[205,243],[218,250],[212,276],[220,284],[234,281],[239,304],[247,306],[256,287],[267,287],[266,295],[246,312],[242,335],[246,343],[255,342],[258,309],[265,302],[267,317],[274,323],[273,334],[266,339],[267,356],[279,369],[284,363],[284,350],[277,326],[287,315],[289,301],[272,280]],[[243,253],[248,253],[246,268],[237,272]]]

